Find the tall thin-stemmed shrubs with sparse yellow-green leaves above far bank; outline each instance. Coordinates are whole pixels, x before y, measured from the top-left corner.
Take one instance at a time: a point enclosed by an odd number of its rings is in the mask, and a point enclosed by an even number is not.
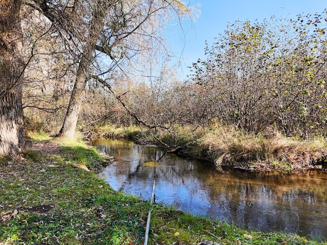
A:
[[[325,134],[326,14],[228,26],[193,65],[213,115],[254,133],[274,124],[289,136]]]

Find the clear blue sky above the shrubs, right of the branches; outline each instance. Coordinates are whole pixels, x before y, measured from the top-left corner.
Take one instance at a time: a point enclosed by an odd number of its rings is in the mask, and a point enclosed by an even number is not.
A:
[[[167,34],[174,54],[172,62],[180,61],[181,67],[177,76],[181,79],[190,74],[192,66],[199,58],[204,58],[205,41],[209,46],[214,37],[226,30],[228,22],[236,20],[262,21],[270,18],[294,18],[297,14],[322,13],[327,8],[326,0],[184,0],[190,5],[199,5],[201,14],[194,22],[183,21],[183,33],[178,24],[171,27]]]

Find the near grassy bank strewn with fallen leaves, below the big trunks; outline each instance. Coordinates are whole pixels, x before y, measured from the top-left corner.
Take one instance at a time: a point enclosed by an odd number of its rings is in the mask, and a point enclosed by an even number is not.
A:
[[[0,244],[143,244],[149,209],[149,244],[319,244],[150,205],[99,179],[106,164],[83,142],[54,138],[33,137],[30,150],[1,158]]]

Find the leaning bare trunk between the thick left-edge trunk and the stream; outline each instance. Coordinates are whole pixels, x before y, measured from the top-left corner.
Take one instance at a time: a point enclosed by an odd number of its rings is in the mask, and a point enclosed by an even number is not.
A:
[[[75,85],[72,91],[71,100],[67,108],[63,125],[59,131],[59,137],[73,138],[77,126],[78,115],[81,110],[83,97],[85,94],[85,86],[89,77],[90,65],[93,61],[95,45],[99,38],[99,34],[104,26],[105,9],[104,4],[98,0],[94,5],[93,17],[89,30],[88,40],[85,42],[82,59],[79,63]]]

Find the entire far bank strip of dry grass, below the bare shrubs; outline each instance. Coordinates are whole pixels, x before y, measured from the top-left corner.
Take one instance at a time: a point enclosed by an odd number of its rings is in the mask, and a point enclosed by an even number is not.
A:
[[[128,138],[139,144],[157,144],[167,151],[214,163],[254,171],[300,171],[327,168],[327,141],[322,137],[285,137],[272,128],[254,135],[235,127],[175,126],[154,133],[135,126],[105,125],[93,130],[94,137]]]

